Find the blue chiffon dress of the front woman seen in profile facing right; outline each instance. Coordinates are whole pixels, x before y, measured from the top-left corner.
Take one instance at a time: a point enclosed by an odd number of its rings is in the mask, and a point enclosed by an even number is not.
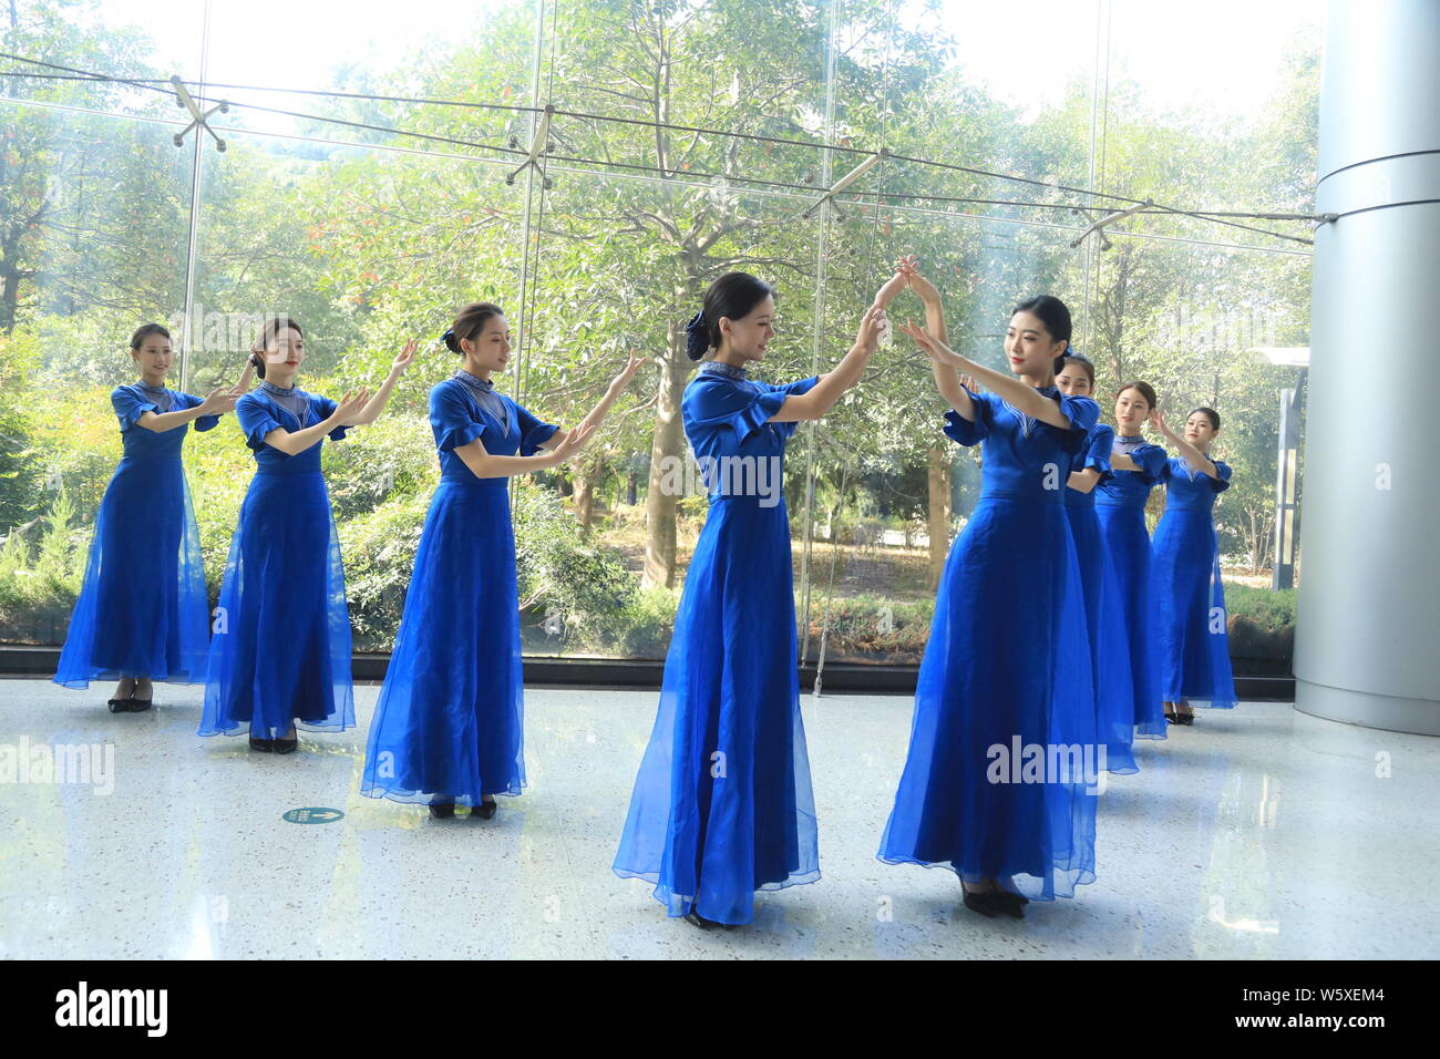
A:
[[[747,924],[756,890],[819,879],[779,488],[798,424],[769,422],[816,382],[772,386],[711,362],[681,403],[696,460],[711,467],[710,514],[613,864],[654,883],[671,916]]]

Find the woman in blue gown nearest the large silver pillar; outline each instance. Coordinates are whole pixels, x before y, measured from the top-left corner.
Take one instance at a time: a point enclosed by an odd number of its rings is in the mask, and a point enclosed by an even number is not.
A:
[[[1165,514],[1155,527],[1152,576],[1159,598],[1161,699],[1165,718],[1194,725],[1191,706],[1231,709],[1236,682],[1225,633],[1225,589],[1211,509],[1230,488],[1230,467],[1210,458],[1220,414],[1197,408],[1175,435],[1159,412],[1156,429],[1179,450],[1165,473]]]

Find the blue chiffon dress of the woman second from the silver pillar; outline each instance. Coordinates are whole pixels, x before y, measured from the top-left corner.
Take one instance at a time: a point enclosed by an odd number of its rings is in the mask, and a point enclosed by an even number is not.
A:
[[[1151,535],[1145,529],[1145,503],[1151,488],[1165,478],[1169,457],[1159,445],[1140,437],[1119,438],[1115,451],[1125,452],[1139,471],[1112,471],[1109,481],[1096,486],[1096,514],[1110,549],[1120,595],[1115,608],[1125,624],[1130,651],[1130,683],[1135,735],[1139,739],[1164,739],[1165,705],[1161,699],[1159,602],[1151,579]]]

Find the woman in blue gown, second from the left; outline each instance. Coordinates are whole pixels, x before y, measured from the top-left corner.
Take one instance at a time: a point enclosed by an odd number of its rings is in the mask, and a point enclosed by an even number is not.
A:
[[[252,751],[289,754],[297,728],[354,725],[350,611],[320,445],[374,422],[413,353],[412,341],[373,396],[336,402],[295,386],[305,359],[300,324],[276,317],[261,329],[252,362],[262,382],[235,405],[255,477],[230,537],[200,735],[243,726]]]

